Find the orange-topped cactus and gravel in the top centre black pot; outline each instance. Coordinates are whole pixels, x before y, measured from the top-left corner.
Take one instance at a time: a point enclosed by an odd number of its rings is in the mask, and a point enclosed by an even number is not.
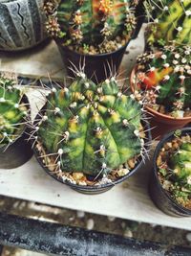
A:
[[[47,30],[77,52],[113,52],[130,39],[138,0],[47,0]]]

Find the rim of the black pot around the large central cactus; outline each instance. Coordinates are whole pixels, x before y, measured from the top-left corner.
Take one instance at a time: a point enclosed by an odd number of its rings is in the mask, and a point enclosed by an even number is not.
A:
[[[43,110],[43,108],[41,109],[41,111]],[[38,114],[37,114],[38,116]],[[146,134],[147,134],[147,137],[145,140],[147,141],[151,141],[152,140],[152,137],[151,137],[151,131],[150,131],[150,125],[147,121],[142,121],[144,123],[144,127],[146,128]],[[58,178],[56,175],[54,174],[51,174],[51,171],[48,169],[48,167],[45,167],[43,162],[41,161],[41,159],[43,158],[40,158],[39,156],[39,152],[36,150],[35,148],[36,146],[36,143],[32,149],[32,151],[34,152],[34,156],[35,158],[37,159],[38,163],[40,164],[40,166],[43,168],[43,170],[48,174],[48,175],[51,175],[55,180],[59,181],[60,183],[62,184],[65,184],[65,185],[69,185],[70,187],[76,189],[76,190],[83,190],[83,191],[98,191],[98,190],[101,190],[101,189],[105,189],[105,188],[110,188],[110,187],[113,187],[115,185],[117,185],[118,183],[124,181],[125,179],[127,179],[128,177],[130,177],[131,175],[133,175],[134,173],[136,173],[139,169],[140,166],[142,166],[143,164],[143,160],[141,159],[141,156],[138,157],[138,163],[136,165],[136,167],[131,170],[127,175],[124,175],[122,177],[119,177],[117,178],[117,180],[115,181],[112,181],[110,183],[106,183],[106,184],[101,184],[101,185],[77,185],[77,184],[74,184],[68,180],[62,180],[60,178]],[[149,149],[150,146],[147,146],[147,149]]]

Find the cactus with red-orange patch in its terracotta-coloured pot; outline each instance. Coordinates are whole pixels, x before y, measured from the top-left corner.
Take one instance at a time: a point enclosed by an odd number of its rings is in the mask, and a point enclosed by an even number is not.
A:
[[[190,53],[189,46],[165,46],[139,56],[132,70],[131,89],[144,99],[154,137],[191,122]]]

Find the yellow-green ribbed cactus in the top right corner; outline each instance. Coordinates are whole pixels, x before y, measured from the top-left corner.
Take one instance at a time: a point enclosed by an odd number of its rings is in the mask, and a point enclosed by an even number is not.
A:
[[[150,45],[191,45],[190,0],[145,1],[147,15],[153,24],[147,32]]]

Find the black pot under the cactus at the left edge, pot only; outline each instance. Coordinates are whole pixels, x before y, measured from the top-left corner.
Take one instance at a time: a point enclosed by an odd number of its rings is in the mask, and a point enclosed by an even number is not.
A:
[[[29,104],[27,96],[23,96],[22,100],[25,104]],[[32,157],[31,143],[27,141],[26,134],[28,128],[24,128],[20,137],[18,137],[8,149],[7,147],[0,147],[0,169],[14,169],[17,168]]]

